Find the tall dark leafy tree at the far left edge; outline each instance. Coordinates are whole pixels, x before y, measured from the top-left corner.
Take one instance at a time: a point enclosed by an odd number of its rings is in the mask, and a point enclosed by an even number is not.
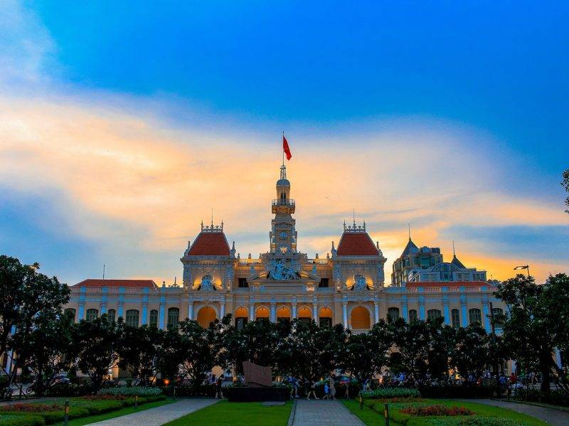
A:
[[[31,332],[39,314],[60,312],[69,300],[69,288],[55,277],[38,273],[38,263],[22,265],[17,258],[0,256],[0,357],[14,351],[18,358],[9,373],[14,381],[18,368],[24,366],[31,344]],[[11,334],[16,332],[17,339]]]

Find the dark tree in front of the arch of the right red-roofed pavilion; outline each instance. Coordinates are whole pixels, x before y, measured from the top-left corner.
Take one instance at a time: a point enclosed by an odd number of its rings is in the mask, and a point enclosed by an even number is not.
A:
[[[349,334],[341,348],[338,366],[355,377],[361,386],[366,378],[381,373],[388,364],[388,351],[392,345],[393,329],[385,320],[380,320],[368,333]]]

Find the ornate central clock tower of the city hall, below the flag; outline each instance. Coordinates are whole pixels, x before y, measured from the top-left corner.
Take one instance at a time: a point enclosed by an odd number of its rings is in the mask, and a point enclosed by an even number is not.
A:
[[[272,200],[272,213],[275,218],[271,221],[269,233],[271,253],[297,253],[297,231],[294,229],[295,220],[294,200],[290,198],[290,182],[287,180],[287,167],[280,168],[280,179],[277,180],[277,198]]]

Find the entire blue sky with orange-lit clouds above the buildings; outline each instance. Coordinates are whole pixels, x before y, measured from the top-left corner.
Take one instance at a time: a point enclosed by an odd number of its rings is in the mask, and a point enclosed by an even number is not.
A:
[[[281,135],[299,251],[366,221],[506,279],[569,272],[569,4],[0,7],[0,253],[74,284],[181,278],[200,223],[268,250]]]

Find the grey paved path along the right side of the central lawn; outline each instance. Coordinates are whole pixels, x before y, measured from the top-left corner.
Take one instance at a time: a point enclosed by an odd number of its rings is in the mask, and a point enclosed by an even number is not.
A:
[[[294,405],[292,426],[363,426],[338,400],[298,399]]]

